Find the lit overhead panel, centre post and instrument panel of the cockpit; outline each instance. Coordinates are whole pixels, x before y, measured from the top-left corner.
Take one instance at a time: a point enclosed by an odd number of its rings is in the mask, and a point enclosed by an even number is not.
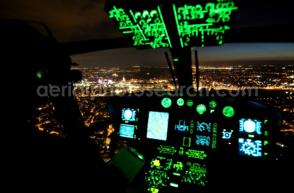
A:
[[[180,87],[192,85],[190,48],[226,42],[238,9],[236,1],[173,1],[140,9],[135,3],[107,1],[105,7],[135,47],[170,48]],[[198,88],[197,61],[195,74]],[[137,159],[128,162],[114,156],[108,165],[126,174],[142,167],[141,178],[150,192],[271,181],[263,164],[272,160],[281,114],[242,97],[189,92],[183,87],[176,93],[110,98],[107,106],[115,132],[130,146],[120,153]],[[134,180],[135,171],[126,175],[128,181]]]

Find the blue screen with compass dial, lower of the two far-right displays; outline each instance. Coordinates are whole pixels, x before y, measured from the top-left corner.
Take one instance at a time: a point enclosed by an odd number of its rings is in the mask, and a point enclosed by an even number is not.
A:
[[[260,140],[251,140],[239,138],[239,155],[260,157],[262,142]]]

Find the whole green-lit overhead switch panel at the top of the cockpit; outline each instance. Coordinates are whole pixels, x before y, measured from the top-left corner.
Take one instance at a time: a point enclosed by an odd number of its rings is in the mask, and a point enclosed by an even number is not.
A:
[[[109,2],[109,17],[137,48],[222,45],[239,9],[234,0]]]

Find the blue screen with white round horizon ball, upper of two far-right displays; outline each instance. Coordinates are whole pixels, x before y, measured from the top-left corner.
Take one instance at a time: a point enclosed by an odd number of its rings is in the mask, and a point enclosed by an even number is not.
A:
[[[261,121],[251,119],[240,119],[239,132],[243,134],[261,135]]]

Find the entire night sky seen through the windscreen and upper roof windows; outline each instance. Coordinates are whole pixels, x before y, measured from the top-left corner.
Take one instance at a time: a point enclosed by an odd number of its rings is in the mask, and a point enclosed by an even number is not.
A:
[[[240,25],[235,27],[294,22],[293,6],[289,1],[275,1],[279,4],[264,0],[245,2],[240,11]],[[43,22],[59,42],[124,37],[108,18],[104,4],[104,0],[1,1],[0,18]],[[196,49],[200,65],[294,64],[294,43],[227,43]],[[79,67],[167,65],[165,51],[169,50],[120,48],[71,58]]]

